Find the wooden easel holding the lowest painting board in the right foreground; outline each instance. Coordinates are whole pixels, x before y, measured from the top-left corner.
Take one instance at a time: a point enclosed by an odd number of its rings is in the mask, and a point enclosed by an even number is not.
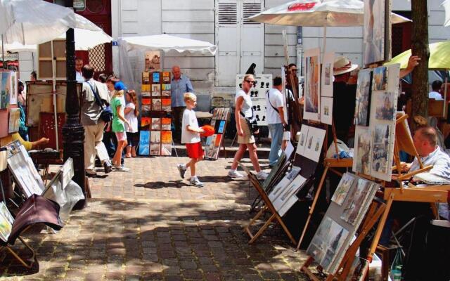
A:
[[[338,268],[335,273],[330,273],[326,277],[327,281],[332,280],[345,280],[347,275],[350,273],[350,269],[352,268],[352,263],[356,257],[356,251],[358,251],[361,242],[363,242],[364,238],[368,235],[368,232],[375,226],[375,223],[378,221],[380,216],[385,212],[386,204],[380,202],[378,200],[373,200],[371,206],[368,209],[366,214],[366,218],[364,219],[364,223],[360,227],[359,235],[356,237],[356,240],[352,242],[350,247],[345,251],[344,258],[340,262]],[[309,256],[307,261],[304,262],[301,271],[306,273],[311,280],[319,281],[319,278],[316,277],[311,270],[309,270],[309,265],[314,261],[312,256]],[[318,266],[317,269],[319,272],[322,272],[321,266]]]

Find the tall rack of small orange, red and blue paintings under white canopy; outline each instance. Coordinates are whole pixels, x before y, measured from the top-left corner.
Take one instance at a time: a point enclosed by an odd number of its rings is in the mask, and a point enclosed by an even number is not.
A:
[[[141,96],[139,155],[172,155],[170,72],[142,72]]]

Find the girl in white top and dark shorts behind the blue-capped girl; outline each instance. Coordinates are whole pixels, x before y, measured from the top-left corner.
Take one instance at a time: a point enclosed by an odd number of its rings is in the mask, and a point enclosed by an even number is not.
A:
[[[127,119],[129,125],[125,125],[127,130],[127,153],[125,157],[131,158],[136,157],[136,145],[138,144],[139,133],[138,133],[138,99],[136,97],[136,92],[134,90],[127,91],[125,95],[125,100],[127,100],[127,106],[125,107],[125,119]]]

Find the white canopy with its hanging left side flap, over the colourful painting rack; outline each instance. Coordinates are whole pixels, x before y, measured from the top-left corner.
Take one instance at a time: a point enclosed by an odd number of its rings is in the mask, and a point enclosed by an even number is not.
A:
[[[140,37],[121,37],[119,42],[120,54],[120,73],[119,77],[130,89],[140,92],[139,86],[140,72],[143,71],[143,62],[140,63],[140,58],[143,60],[146,51],[162,51],[172,54],[198,54],[198,55],[215,55],[217,46],[210,42],[186,39],[182,37],[175,37],[168,34],[148,35]],[[131,67],[129,55],[135,56],[138,60],[134,61],[135,67]],[[135,74],[139,73],[139,76]],[[138,87],[139,86],[139,87]]]

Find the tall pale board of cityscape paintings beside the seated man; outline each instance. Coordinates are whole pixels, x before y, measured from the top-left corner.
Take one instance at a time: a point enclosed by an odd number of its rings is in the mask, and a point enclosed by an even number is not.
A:
[[[399,65],[361,70],[355,107],[353,171],[390,181]]]

